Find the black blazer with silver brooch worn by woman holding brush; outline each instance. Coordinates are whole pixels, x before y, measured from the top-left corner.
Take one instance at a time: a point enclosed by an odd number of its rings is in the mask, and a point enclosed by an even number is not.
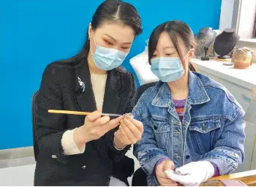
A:
[[[61,137],[66,130],[84,124],[85,116],[50,114],[54,110],[97,110],[88,62],[85,57],[55,62],[43,73],[36,105],[36,144],[39,148],[35,186],[109,186],[110,176],[127,183],[134,171],[133,159],[125,156],[129,146],[116,150],[115,130],[88,142],[85,153],[65,156]],[[78,77],[85,83],[85,92]],[[108,72],[103,112],[124,114],[135,104],[135,79],[124,69]],[[127,183],[128,185],[128,183]]]

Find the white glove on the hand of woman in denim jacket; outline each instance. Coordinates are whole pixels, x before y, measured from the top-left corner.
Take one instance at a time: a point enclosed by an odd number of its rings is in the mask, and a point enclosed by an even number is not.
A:
[[[175,171],[165,171],[165,174],[183,186],[199,186],[204,181],[213,177],[214,167],[208,161],[190,162]]]

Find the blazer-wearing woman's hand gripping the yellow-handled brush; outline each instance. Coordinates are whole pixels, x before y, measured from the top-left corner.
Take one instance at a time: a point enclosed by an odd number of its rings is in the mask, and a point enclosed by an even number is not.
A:
[[[74,142],[77,147],[85,145],[92,140],[100,139],[109,130],[118,127],[122,116],[110,120],[109,116],[101,117],[101,113],[99,110],[91,112],[85,117],[85,124],[75,129]]]

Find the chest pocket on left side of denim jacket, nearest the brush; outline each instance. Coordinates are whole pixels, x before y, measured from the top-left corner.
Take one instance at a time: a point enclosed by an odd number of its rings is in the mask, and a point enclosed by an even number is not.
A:
[[[153,128],[154,135],[156,137],[156,143],[158,148],[168,152],[168,145],[170,142],[170,124],[166,118],[158,116],[152,116],[151,126]]]

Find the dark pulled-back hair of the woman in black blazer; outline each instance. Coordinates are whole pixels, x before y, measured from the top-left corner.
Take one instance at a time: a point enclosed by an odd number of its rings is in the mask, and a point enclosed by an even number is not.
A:
[[[95,31],[103,22],[118,22],[124,25],[129,25],[135,37],[141,34],[141,17],[132,4],[119,0],[106,0],[99,7],[91,19],[91,28]],[[79,57],[87,57],[90,51],[90,39],[87,33],[85,45],[82,51],[77,55]],[[76,56],[76,57],[77,57]]]

